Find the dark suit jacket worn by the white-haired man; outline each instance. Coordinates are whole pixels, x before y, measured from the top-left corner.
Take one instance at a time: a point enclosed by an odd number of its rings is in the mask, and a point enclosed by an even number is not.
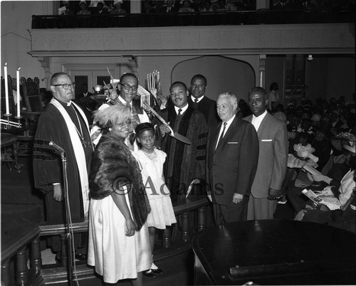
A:
[[[227,205],[234,193],[250,195],[258,162],[258,138],[251,123],[235,117],[215,150],[221,124],[209,130],[206,181],[213,202]]]

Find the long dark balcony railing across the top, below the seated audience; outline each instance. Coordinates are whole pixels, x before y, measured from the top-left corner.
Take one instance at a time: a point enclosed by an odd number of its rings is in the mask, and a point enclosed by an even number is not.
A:
[[[115,28],[353,23],[356,11],[258,10],[176,14],[33,15],[32,28]]]

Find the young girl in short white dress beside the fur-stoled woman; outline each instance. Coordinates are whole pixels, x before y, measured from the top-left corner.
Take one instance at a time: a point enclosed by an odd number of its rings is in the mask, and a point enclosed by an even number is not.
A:
[[[145,185],[147,197],[150,201],[151,212],[147,218],[148,231],[150,233],[150,245],[153,253],[155,246],[155,231],[165,229],[176,223],[169,189],[164,183],[163,163],[167,154],[154,148],[155,127],[151,123],[142,123],[135,128],[137,145],[140,148],[135,156],[142,165],[142,181]],[[161,274],[162,270],[155,263],[143,275],[154,277]]]

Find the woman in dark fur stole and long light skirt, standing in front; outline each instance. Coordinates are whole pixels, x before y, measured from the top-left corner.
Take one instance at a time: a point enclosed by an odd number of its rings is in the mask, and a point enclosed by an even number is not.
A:
[[[104,130],[90,172],[88,265],[105,283],[132,279],[152,265],[147,216],[150,212],[140,166],[125,145],[132,132],[130,107],[113,105],[95,113]]]

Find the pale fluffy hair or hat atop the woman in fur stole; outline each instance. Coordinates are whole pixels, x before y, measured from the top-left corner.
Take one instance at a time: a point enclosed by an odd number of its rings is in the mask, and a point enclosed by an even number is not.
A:
[[[122,123],[127,120],[135,122],[131,108],[126,105],[112,105],[110,107],[97,110],[94,114],[94,122],[97,122],[100,127],[108,128],[117,123]]]

